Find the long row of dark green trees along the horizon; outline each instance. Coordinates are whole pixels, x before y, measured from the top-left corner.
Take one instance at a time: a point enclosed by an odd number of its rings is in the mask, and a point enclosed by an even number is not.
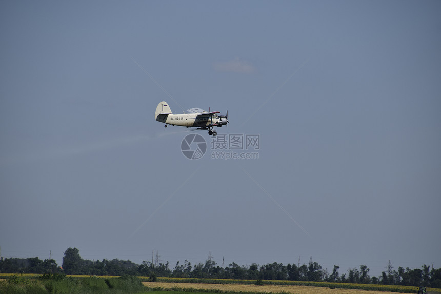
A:
[[[66,275],[111,275],[111,276],[156,276],[175,278],[208,278],[208,279],[239,279],[239,280],[291,280],[291,281],[316,281],[339,282],[357,284],[386,284],[404,286],[427,286],[441,288],[441,268],[435,269],[423,265],[421,268],[403,268],[391,273],[382,272],[379,277],[370,277],[369,268],[360,265],[359,268],[348,269],[340,274],[340,267],[334,265],[332,272],[323,269],[317,262],[309,262],[297,266],[296,264],[284,265],[282,263],[268,263],[250,266],[239,266],[235,262],[227,267],[220,267],[211,259],[205,263],[192,265],[187,260],[177,262],[173,268],[166,263],[153,264],[143,261],[136,264],[130,260],[85,260],[79,255],[77,248],[68,248],[64,252],[63,264],[58,266],[53,259],[42,261],[38,257],[20,259],[0,259],[0,273],[65,273]]]

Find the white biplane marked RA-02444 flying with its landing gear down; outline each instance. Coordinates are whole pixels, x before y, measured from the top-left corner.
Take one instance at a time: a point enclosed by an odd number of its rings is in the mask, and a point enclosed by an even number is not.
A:
[[[208,130],[209,135],[217,135],[214,127],[222,127],[229,123],[227,115],[217,115],[219,111],[207,112],[201,108],[190,108],[189,113],[173,114],[167,102],[159,102],[155,111],[155,120],[172,126],[197,127],[198,130]]]

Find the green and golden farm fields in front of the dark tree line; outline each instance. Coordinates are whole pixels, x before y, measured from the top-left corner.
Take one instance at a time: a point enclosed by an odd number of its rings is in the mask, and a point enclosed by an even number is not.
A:
[[[0,294],[11,293],[11,289],[17,293],[42,293],[57,292],[66,287],[78,289],[77,293],[83,293],[89,287],[103,288],[115,292],[114,286],[122,287],[122,291],[130,289],[127,293],[239,293],[239,294],[392,294],[392,293],[416,293],[418,287],[373,285],[373,284],[349,284],[327,282],[302,282],[302,281],[261,281],[263,285],[255,285],[256,280],[233,280],[233,279],[191,279],[191,278],[163,278],[158,277],[155,282],[147,282],[149,277],[135,276],[87,276],[87,275],[14,275],[0,274]],[[29,291],[25,289],[29,288]],[[45,289],[46,288],[46,289]],[[59,288],[59,289],[58,289]],[[110,289],[108,289],[110,288]],[[113,288],[113,289],[111,289]],[[25,290],[25,291],[22,291]],[[47,291],[46,291],[47,290]],[[55,291],[57,290],[57,291]],[[113,291],[112,291],[113,290]],[[132,291],[135,290],[135,291]],[[88,291],[88,290],[87,290]],[[87,292],[86,291],[86,292]],[[63,292],[63,291],[58,291]],[[174,293],[173,293],[174,292]],[[103,292],[104,293],[104,292]],[[428,288],[429,294],[441,294],[441,289]]]

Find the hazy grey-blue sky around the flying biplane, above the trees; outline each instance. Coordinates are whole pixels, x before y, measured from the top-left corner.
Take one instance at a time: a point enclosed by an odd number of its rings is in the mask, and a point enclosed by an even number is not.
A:
[[[441,267],[440,14],[0,2],[1,255]],[[212,137],[164,128],[161,101],[228,109],[216,131],[259,134],[259,158],[188,160],[185,135]]]

